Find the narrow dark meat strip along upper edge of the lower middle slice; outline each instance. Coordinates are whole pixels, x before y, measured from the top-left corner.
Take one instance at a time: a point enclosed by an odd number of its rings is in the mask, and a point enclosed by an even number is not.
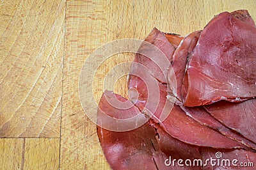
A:
[[[241,144],[244,144],[248,148],[247,150],[256,150],[256,144],[248,139],[244,138],[242,135],[237,134],[234,130],[230,130],[229,128],[225,127],[220,121],[216,120],[207,112],[204,107],[185,107],[180,105],[183,111],[191,117],[193,120],[197,121],[198,123],[205,125],[206,127],[214,128],[218,130],[221,134],[229,137],[230,139],[234,139]],[[245,148],[245,147],[244,147]]]

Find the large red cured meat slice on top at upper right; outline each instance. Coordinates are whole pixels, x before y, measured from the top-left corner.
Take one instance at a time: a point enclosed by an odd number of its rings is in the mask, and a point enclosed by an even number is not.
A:
[[[256,96],[256,27],[246,10],[223,12],[202,31],[188,63],[184,105]]]

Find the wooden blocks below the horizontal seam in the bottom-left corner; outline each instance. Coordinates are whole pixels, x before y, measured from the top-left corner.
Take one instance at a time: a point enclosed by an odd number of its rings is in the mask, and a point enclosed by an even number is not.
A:
[[[59,138],[0,139],[0,169],[58,169]]]

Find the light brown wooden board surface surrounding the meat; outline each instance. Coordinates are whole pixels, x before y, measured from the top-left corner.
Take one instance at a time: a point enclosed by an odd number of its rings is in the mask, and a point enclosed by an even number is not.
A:
[[[84,114],[78,80],[100,45],[144,39],[153,27],[187,35],[220,12],[252,1],[0,1],[0,169],[109,169],[95,124]],[[133,54],[104,62],[94,81]],[[126,96],[126,79],[115,92]]]

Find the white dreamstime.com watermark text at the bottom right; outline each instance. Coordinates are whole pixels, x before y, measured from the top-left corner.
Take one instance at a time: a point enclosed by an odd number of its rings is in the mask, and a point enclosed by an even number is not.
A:
[[[166,166],[179,166],[179,167],[184,167],[184,166],[200,166],[200,167],[207,167],[207,166],[218,166],[218,167],[253,167],[253,162],[239,162],[236,158],[230,160],[228,158],[221,158],[223,157],[222,153],[220,151],[215,153],[215,158],[206,158],[205,160],[202,159],[172,159],[170,156],[166,160],[164,160],[164,164]]]

